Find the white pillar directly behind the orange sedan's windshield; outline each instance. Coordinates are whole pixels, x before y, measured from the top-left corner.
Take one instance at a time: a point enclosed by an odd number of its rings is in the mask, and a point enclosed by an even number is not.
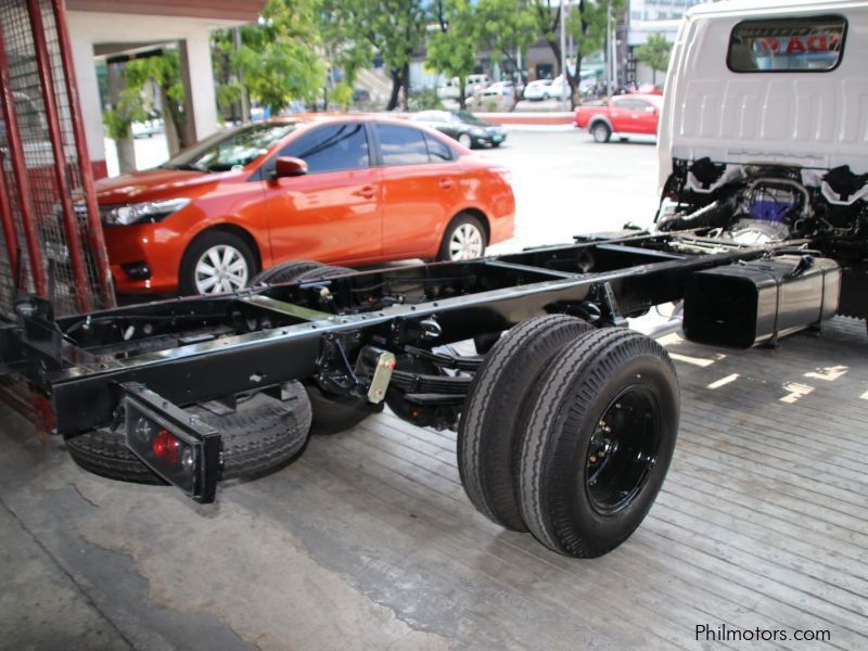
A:
[[[192,133],[196,140],[202,140],[220,128],[207,29],[197,29],[187,36],[181,43],[181,62],[184,60],[187,69],[182,74],[186,76],[187,106],[192,110]]]

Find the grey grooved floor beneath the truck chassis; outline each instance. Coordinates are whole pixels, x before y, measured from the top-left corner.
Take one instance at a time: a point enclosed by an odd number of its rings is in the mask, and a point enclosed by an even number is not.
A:
[[[209,557],[196,557],[214,573],[212,583],[203,584],[210,588],[209,601],[196,603],[260,648],[388,642],[407,649],[740,649],[746,643],[698,640],[698,625],[777,629],[788,637],[751,648],[868,648],[865,323],[837,319],[820,336],[790,337],[775,350],[733,353],[675,335],[666,343],[681,385],[675,459],[642,526],[602,559],[566,559],[529,535],[489,523],[464,497],[455,434],[418,429],[390,413],[311,439],[282,471],[226,487],[214,508],[191,509],[169,489],[90,477],[64,460],[68,481],[99,508],[88,511],[86,525],[59,515],[53,526],[129,553],[139,573],[161,586],[151,588],[142,608],[156,602],[178,609],[178,601],[190,599],[182,598],[190,586],[161,580],[169,569],[154,561],[173,553],[166,539],[183,553],[195,551],[184,548],[180,535],[170,537],[167,523],[183,523],[183,540],[213,540],[215,527],[228,526],[219,521],[243,514],[254,524],[233,529],[231,548],[215,545]],[[5,457],[9,445],[2,445]],[[0,489],[25,523],[28,509],[51,508],[31,492],[25,499],[21,486],[3,483]],[[156,500],[162,511],[140,513],[136,507],[145,499]],[[129,516],[137,522],[118,513],[135,513]],[[322,628],[305,633],[297,623],[281,628],[281,613],[326,625],[329,613],[309,598],[320,575],[310,579],[309,569],[293,574],[297,569],[291,563],[280,578],[285,558],[271,548],[250,553],[275,531],[290,537],[318,572],[386,609],[403,628],[392,631],[370,617],[335,624],[328,635]],[[136,532],[148,536],[137,538]],[[151,545],[143,539],[149,536],[164,544]],[[50,542],[46,547],[52,549]],[[245,558],[242,567],[233,562],[237,554]],[[118,589],[73,556],[60,550],[56,556],[106,601]],[[227,590],[244,590],[233,586],[250,582],[259,583],[261,596],[250,591],[250,617],[240,623],[230,613]],[[279,586],[284,589],[276,601]],[[341,599],[335,597],[335,612],[348,608]],[[266,614],[257,618],[256,609]],[[111,607],[104,610],[111,617]],[[828,631],[830,639],[793,641],[796,630]],[[424,638],[405,637],[411,634]],[[171,633],[161,635],[180,643]],[[181,641],[196,647],[195,640]]]

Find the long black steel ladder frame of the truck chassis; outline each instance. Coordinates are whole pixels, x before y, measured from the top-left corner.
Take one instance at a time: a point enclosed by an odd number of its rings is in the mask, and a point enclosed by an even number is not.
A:
[[[792,242],[787,244],[789,248],[792,246]],[[582,304],[592,304],[601,318],[618,322],[621,315],[680,299],[685,282],[693,271],[754,259],[777,247],[737,246],[705,240],[695,233],[638,234],[470,263],[391,267],[314,283],[328,288],[343,279],[357,284],[368,279],[410,282],[416,279],[413,273],[422,273],[436,284],[436,277],[426,276],[430,271],[447,275],[452,269],[462,273],[472,271],[480,279],[496,272],[540,278],[526,284],[356,314],[329,314],[285,301],[281,297],[284,290],[303,285],[275,285],[114,308],[56,322],[50,316],[23,316],[18,324],[0,329],[0,361],[8,369],[25,374],[51,396],[58,433],[75,433],[111,421],[123,400],[124,383],[137,382],[174,404],[189,405],[310,378],[320,369],[324,344],[345,335],[394,350],[420,342],[442,345],[505,330],[534,316],[570,312]],[[546,267],[587,255],[627,259],[625,266],[598,272]],[[297,322],[128,357],[94,355],[87,346],[63,335],[82,322],[137,318],[180,319],[193,315],[219,324],[234,306],[253,306]],[[433,335],[425,331],[432,322],[436,324]],[[130,342],[130,346],[135,343]]]

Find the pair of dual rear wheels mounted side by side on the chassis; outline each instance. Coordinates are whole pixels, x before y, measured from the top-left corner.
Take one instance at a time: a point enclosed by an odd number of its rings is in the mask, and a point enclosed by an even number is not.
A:
[[[508,331],[464,405],[458,464],[473,505],[579,558],[639,526],[678,430],[675,369],[659,344],[562,315]]]

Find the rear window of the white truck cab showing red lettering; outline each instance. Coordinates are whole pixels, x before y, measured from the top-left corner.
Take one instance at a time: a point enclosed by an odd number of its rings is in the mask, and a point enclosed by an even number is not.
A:
[[[846,27],[841,16],[744,21],[732,28],[726,62],[736,73],[832,71]]]

